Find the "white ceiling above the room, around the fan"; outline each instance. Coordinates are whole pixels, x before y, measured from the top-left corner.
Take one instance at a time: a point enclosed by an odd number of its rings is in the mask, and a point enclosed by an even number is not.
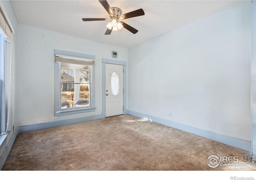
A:
[[[131,48],[170,30],[188,24],[216,10],[230,6],[233,0],[108,0],[122,14],[142,8],[144,16],[123,20],[138,30],[132,34],[123,28],[105,35],[107,21],[84,22],[82,18],[109,18],[98,0],[11,0],[18,22],[45,30]],[[118,44],[116,44],[116,42]]]

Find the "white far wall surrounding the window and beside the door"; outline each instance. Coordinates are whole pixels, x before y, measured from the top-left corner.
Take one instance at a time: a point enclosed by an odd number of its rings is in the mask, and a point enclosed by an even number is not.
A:
[[[86,33],[86,32],[85,32]],[[96,57],[96,111],[54,116],[54,49]],[[102,58],[113,59],[114,46],[18,24],[16,119],[19,126],[102,114]],[[128,49],[118,58],[128,61]]]

